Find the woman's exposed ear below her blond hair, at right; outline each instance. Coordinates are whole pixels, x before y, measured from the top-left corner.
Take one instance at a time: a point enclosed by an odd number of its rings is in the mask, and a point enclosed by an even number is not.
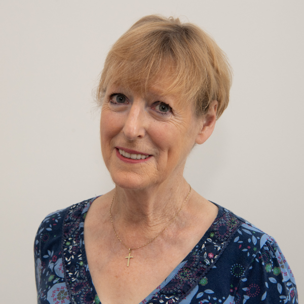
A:
[[[202,118],[199,119],[200,130],[195,140],[196,143],[198,144],[204,143],[212,134],[216,122],[217,106],[218,106],[217,100],[213,100],[209,106],[208,112]]]

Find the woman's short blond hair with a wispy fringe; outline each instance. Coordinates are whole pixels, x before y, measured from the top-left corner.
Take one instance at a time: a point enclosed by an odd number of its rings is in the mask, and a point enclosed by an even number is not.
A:
[[[164,77],[167,94],[194,102],[198,117],[213,100],[218,101],[217,118],[228,105],[232,70],[224,52],[197,25],[159,15],[141,18],[112,46],[97,100],[102,102],[109,82],[142,93]]]

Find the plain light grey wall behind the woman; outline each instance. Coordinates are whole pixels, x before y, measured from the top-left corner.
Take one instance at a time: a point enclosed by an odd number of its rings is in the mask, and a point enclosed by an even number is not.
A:
[[[301,295],[303,9],[302,1],[2,0],[1,302],[35,303],[43,218],[113,187],[92,90],[110,45],[153,13],[204,28],[235,74],[231,104],[189,156],[186,179],[276,238]]]

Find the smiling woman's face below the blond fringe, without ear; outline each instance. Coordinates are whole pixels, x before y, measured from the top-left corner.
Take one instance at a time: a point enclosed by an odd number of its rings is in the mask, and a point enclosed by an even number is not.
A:
[[[181,178],[193,145],[202,143],[198,134],[203,123],[192,105],[185,106],[165,92],[165,86],[154,86],[141,96],[116,85],[107,87],[101,150],[113,181],[123,188],[146,188]]]

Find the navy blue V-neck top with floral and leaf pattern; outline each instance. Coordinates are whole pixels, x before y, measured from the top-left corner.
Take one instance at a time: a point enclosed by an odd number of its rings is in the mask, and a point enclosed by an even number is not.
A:
[[[84,219],[96,198],[49,214],[34,243],[39,304],[99,304],[84,245]],[[218,205],[217,205],[218,206]],[[142,304],[298,303],[277,242],[218,206],[208,231]]]

